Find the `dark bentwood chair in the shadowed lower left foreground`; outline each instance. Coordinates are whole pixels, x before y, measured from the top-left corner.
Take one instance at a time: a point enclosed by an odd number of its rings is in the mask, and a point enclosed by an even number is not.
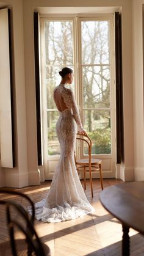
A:
[[[0,200],[0,205],[4,205],[5,207],[7,229],[10,238],[10,241],[0,243],[0,255],[49,256],[49,247],[46,244],[41,243],[34,228],[35,208],[32,200],[25,194],[17,191],[0,189],[0,193],[9,194],[12,198],[13,196],[19,196],[19,199],[23,197],[29,202],[32,210],[32,215],[30,216],[29,213],[27,213],[27,210],[19,202],[18,197],[16,197],[15,200],[9,199],[9,197]],[[15,238],[15,234],[18,231],[24,235],[24,239]]]

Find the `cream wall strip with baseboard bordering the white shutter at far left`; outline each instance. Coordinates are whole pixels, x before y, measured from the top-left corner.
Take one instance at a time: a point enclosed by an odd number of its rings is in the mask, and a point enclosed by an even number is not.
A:
[[[1,1],[0,4],[2,4]],[[5,7],[12,10],[13,46],[13,97],[15,111],[15,153],[16,167],[1,168],[1,186],[22,187],[28,184],[27,172],[27,135],[26,135],[26,97],[24,78],[24,38],[23,38],[23,1],[9,0]]]

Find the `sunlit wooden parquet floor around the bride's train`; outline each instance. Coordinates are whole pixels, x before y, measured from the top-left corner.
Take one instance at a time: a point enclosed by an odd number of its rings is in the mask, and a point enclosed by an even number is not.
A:
[[[121,182],[123,181],[104,179],[104,188]],[[52,256],[121,255],[121,224],[104,210],[99,202],[99,193],[101,192],[99,180],[93,180],[93,199],[90,192],[90,183],[87,183],[85,194],[95,208],[93,214],[55,224],[35,221],[35,229],[41,240],[50,247]],[[41,183],[40,186],[29,186],[14,190],[24,192],[34,202],[38,202],[46,197],[50,184],[48,181]],[[25,204],[25,202],[22,203]],[[1,208],[0,210],[0,242],[2,243],[8,239],[8,235],[4,209]],[[144,255],[144,237],[132,229],[129,235],[131,236],[131,255]]]

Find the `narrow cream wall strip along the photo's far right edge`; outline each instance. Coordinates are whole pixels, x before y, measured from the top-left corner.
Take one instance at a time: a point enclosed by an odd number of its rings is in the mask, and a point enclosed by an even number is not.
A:
[[[143,126],[143,0],[132,1],[132,55],[134,86],[134,159],[135,180],[144,180]]]

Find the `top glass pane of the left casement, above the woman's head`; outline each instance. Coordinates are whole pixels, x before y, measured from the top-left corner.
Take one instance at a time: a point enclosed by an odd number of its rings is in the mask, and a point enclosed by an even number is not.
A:
[[[47,65],[73,65],[73,21],[45,21]]]

